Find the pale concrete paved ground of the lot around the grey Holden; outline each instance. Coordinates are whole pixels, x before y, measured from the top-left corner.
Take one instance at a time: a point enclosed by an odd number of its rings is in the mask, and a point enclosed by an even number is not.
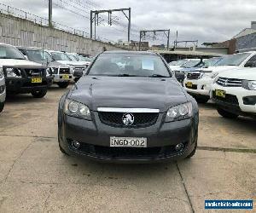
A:
[[[99,164],[58,150],[57,104],[64,91],[51,88],[41,100],[9,97],[0,114],[0,212],[205,212],[205,199],[255,203],[255,120],[227,120],[212,104],[201,105],[194,158]]]

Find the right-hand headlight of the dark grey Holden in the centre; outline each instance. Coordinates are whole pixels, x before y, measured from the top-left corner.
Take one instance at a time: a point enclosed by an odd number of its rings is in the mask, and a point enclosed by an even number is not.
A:
[[[183,120],[191,118],[192,116],[192,103],[188,102],[185,104],[177,105],[176,107],[171,107],[166,113],[166,122],[171,122],[175,120]]]

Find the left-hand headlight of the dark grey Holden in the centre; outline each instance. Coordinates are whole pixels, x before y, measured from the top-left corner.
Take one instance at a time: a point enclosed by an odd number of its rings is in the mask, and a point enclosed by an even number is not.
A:
[[[73,117],[91,120],[89,107],[77,101],[66,99],[65,105],[64,105],[64,112],[67,115],[70,115]]]

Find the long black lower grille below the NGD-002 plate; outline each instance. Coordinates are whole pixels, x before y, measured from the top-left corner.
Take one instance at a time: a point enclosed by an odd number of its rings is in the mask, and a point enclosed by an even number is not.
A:
[[[69,147],[71,146],[70,139],[67,140]],[[187,143],[184,144],[184,148]],[[175,145],[166,147],[103,147],[87,143],[81,143],[79,150],[74,150],[77,153],[83,153],[90,156],[102,158],[164,158],[176,154],[183,153],[183,150],[176,151]]]

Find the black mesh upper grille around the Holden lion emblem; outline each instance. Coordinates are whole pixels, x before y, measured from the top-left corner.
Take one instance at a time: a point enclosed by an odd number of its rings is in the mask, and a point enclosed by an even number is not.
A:
[[[123,116],[125,112],[98,112],[99,118],[103,124],[119,126],[119,127],[146,127],[155,124],[158,118],[158,113],[136,112],[132,113],[134,116],[134,123],[130,126],[123,124]]]

